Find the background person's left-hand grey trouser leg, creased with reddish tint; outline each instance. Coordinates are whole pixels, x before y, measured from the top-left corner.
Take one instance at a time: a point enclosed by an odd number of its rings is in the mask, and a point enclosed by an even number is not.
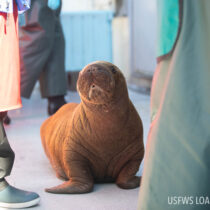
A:
[[[54,42],[53,12],[47,2],[32,0],[19,28],[21,96],[30,98],[51,54]]]

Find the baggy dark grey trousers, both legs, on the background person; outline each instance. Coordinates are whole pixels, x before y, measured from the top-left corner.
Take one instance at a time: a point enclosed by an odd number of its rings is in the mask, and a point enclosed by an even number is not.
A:
[[[47,1],[32,0],[31,9],[24,14],[19,27],[22,97],[30,98],[37,81],[42,97],[66,94],[60,9],[53,11]]]

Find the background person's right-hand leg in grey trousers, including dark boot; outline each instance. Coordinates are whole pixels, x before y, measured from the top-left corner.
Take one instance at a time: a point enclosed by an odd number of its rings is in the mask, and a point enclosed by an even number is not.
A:
[[[64,95],[67,91],[65,72],[65,41],[59,16],[55,14],[54,44],[50,57],[41,73],[40,88],[43,98],[48,98],[48,114],[54,114],[66,103]]]

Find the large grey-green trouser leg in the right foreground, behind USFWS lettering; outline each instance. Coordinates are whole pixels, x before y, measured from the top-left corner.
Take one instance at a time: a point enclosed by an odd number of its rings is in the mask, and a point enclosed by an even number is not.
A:
[[[138,210],[209,209],[195,198],[210,195],[210,1],[180,3],[179,39],[155,74]],[[176,196],[193,202],[176,203]]]

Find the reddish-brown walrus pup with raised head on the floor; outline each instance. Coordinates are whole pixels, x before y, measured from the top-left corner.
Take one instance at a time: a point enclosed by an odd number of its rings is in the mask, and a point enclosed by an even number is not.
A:
[[[121,71],[108,62],[91,63],[80,72],[77,90],[81,103],[64,105],[41,127],[45,152],[65,180],[46,191],[87,193],[94,181],[138,187],[143,126]]]

